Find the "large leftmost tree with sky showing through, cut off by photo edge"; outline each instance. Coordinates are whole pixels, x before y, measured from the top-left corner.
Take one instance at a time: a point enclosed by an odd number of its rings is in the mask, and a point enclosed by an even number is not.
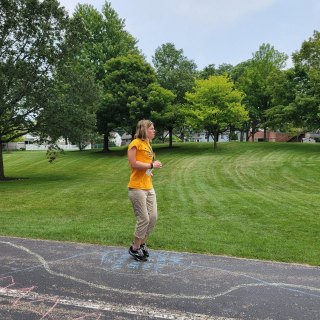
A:
[[[68,16],[56,0],[2,0],[0,6],[0,179],[2,145],[37,129],[52,74],[65,54]]]

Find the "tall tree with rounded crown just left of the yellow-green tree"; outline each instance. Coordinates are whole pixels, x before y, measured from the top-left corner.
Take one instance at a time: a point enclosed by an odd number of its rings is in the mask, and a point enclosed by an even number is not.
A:
[[[166,129],[169,131],[169,147],[172,147],[173,129],[181,123],[181,105],[185,102],[185,93],[194,85],[197,75],[196,64],[183,55],[183,50],[177,50],[172,43],[163,44],[155,51],[152,58],[160,85],[172,91],[176,98],[170,107]],[[178,116],[179,115],[179,116]]]

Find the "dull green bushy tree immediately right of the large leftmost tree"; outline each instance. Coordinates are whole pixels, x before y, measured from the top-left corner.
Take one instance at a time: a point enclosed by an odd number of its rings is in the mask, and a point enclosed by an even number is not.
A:
[[[53,83],[54,99],[39,119],[40,135],[51,142],[64,137],[82,150],[96,133],[96,111],[101,89],[95,75],[70,59],[57,69]]]

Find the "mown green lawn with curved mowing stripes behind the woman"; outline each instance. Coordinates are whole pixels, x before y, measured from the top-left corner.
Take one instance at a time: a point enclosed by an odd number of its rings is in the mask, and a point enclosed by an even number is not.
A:
[[[320,265],[320,144],[154,145],[152,249]],[[6,153],[0,234],[128,246],[126,149]]]

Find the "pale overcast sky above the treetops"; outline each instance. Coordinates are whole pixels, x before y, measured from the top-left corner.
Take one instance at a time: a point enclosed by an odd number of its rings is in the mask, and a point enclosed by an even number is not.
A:
[[[110,0],[149,62],[174,43],[199,69],[236,65],[263,43],[288,56],[320,31],[319,0]],[[101,11],[105,0],[60,0],[72,15],[77,3]],[[288,67],[291,66],[290,60]]]

